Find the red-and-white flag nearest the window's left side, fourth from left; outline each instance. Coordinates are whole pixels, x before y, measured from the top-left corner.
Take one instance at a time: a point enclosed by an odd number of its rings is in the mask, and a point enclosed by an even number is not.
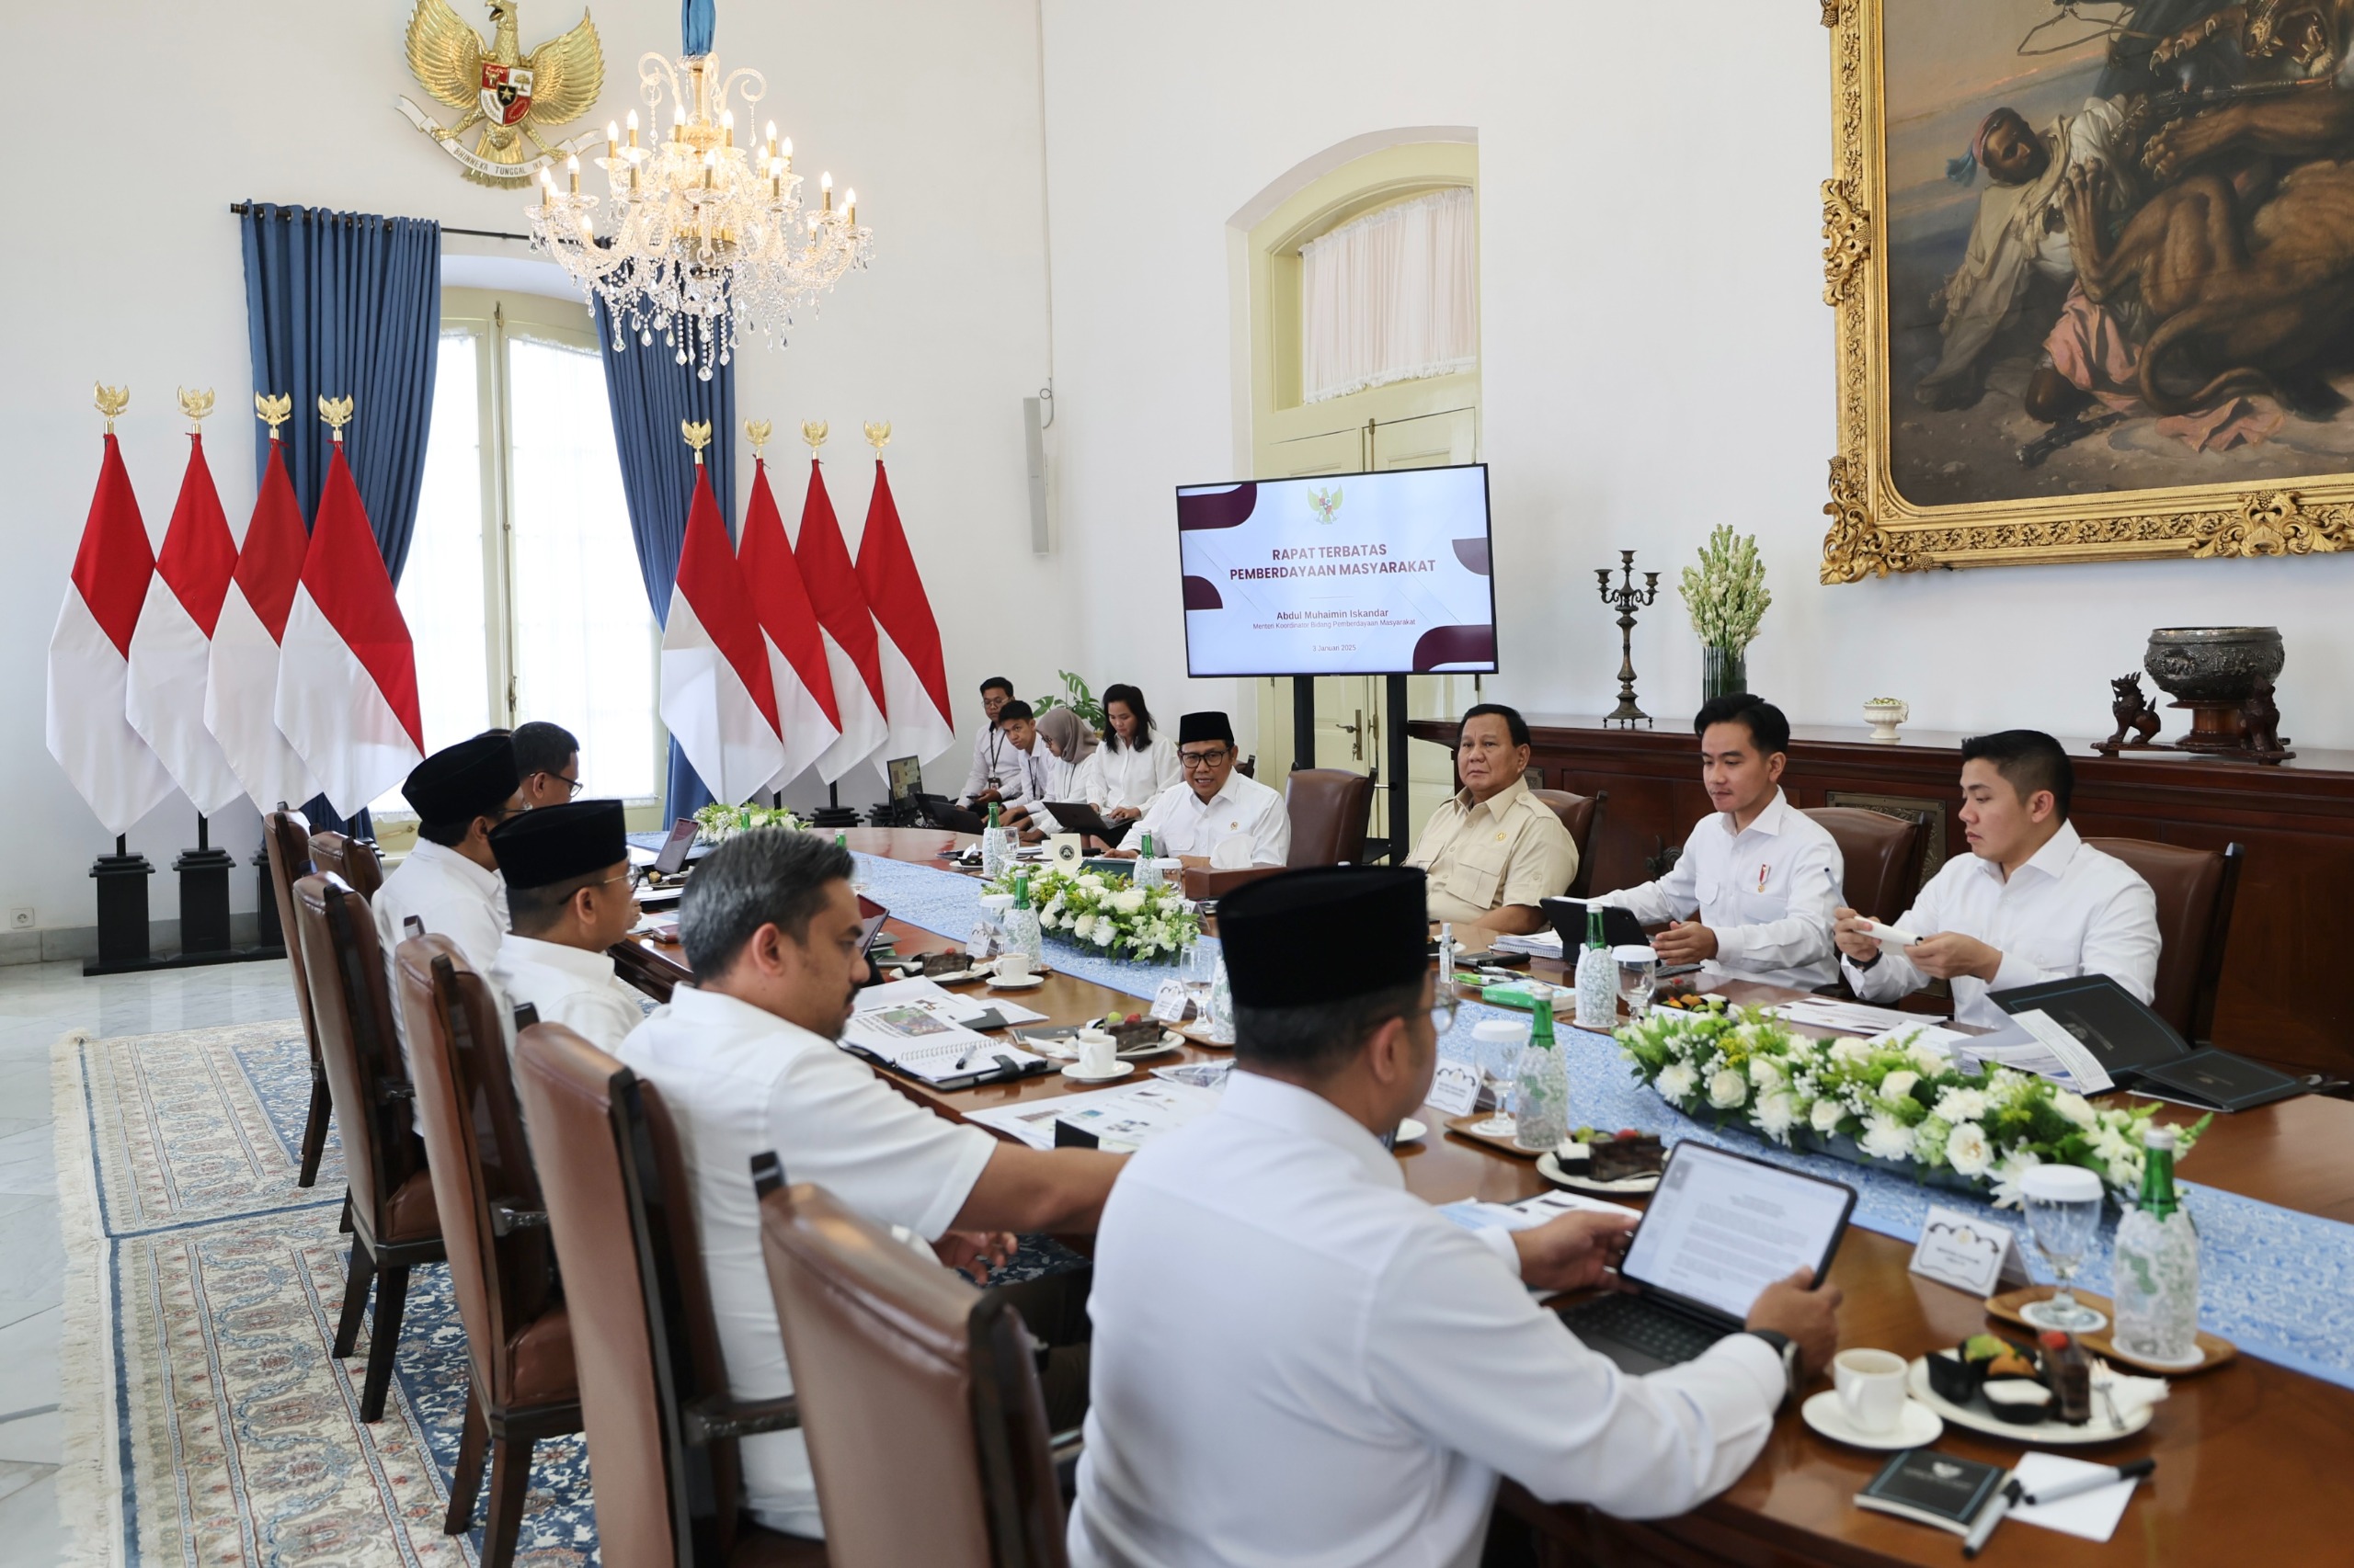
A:
[[[311,549],[278,643],[275,713],[339,817],[363,812],[426,756],[417,650],[344,443],[327,459]]]

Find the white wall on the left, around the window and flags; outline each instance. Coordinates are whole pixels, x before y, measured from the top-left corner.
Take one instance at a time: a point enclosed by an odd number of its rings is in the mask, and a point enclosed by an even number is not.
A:
[[[480,7],[459,12],[478,19]],[[395,94],[424,99],[403,61],[407,14],[407,0],[94,0],[14,5],[0,21],[14,59],[85,59],[94,40],[106,59],[101,85],[78,71],[21,82],[19,167],[31,184],[19,181],[19,198],[40,217],[0,247],[0,297],[12,301],[0,377],[0,906],[35,906],[42,928],[94,921],[85,871],[111,848],[42,739],[49,626],[99,466],[89,384],[132,388],[122,452],[158,542],[186,464],[172,388],[219,388],[207,445],[242,534],[252,365],[228,202],[525,226],[525,193],[466,184],[395,113]],[[525,7],[525,49],[577,14]],[[574,129],[636,104],[638,54],[678,47],[676,0],[598,0],[593,14],[605,97]],[[859,217],[876,228],[871,273],[845,280],[791,348],[756,346],[739,363],[739,410],[779,431],[779,504],[798,518],[803,447],[784,433],[829,419],[831,492],[855,546],[871,476],[859,424],[895,421],[892,487],[935,584],[958,702],[982,664],[1029,685],[1052,671],[1055,638],[1005,607],[1050,603],[1057,584],[1057,567],[1029,553],[1019,405],[1048,374],[1033,5],[739,0],[720,7],[718,45],[723,61],[767,71],[765,108],[793,137],[798,165],[857,186]],[[160,871],[155,918],[177,913],[167,866],[193,843],[191,817],[174,800],[132,831]],[[252,808],[217,829],[240,855],[259,843]],[[245,873],[235,906],[252,906]]]

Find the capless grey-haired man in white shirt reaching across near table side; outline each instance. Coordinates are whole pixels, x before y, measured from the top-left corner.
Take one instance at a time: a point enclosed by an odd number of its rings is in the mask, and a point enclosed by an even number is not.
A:
[[[1003,1260],[1008,1231],[1092,1231],[1123,1156],[1026,1149],[925,1111],[836,1048],[866,979],[852,859],[829,838],[758,829],[730,838],[680,899],[694,984],[617,1052],[678,1123],[711,1276],[727,1387],[793,1391],[760,1257],[751,1158],[817,1182],[878,1224],[935,1243],[944,1262]],[[822,1535],[800,1431],[742,1443],[753,1516]]]

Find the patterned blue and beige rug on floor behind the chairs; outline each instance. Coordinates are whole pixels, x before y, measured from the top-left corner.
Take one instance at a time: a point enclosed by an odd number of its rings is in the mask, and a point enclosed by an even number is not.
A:
[[[450,1271],[410,1276],[384,1420],[337,1361],[334,1140],[301,1189],[301,1024],[56,1045],[68,1434],[82,1563],[476,1563],[440,1533],[466,1396]],[[68,1154],[71,1147],[71,1154]],[[73,1187],[80,1187],[75,1194]],[[75,1201],[80,1198],[80,1201]],[[541,1443],[518,1563],[596,1563],[579,1439]]]

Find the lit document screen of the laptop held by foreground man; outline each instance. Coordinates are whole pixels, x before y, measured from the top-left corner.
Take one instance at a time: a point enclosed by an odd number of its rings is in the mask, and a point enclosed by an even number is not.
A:
[[[1678,1144],[1624,1274],[1747,1318],[1758,1290],[1822,1264],[1846,1212],[1846,1187]]]

